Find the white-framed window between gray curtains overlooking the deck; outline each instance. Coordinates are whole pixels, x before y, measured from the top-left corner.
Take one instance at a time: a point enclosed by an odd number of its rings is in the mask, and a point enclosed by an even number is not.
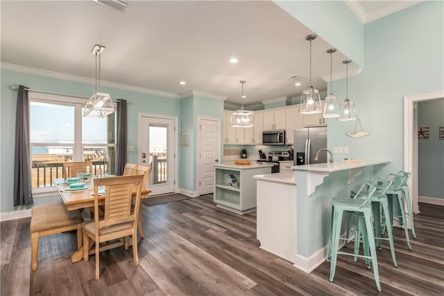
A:
[[[63,162],[93,162],[93,174],[114,173],[115,114],[83,117],[85,100],[29,93],[33,193],[54,191]]]

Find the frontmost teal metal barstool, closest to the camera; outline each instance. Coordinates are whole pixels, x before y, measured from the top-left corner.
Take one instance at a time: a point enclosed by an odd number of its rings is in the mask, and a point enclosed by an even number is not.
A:
[[[358,193],[355,195],[355,198],[333,198],[332,221],[330,224],[330,238],[328,242],[327,261],[331,259],[330,281],[333,281],[338,254],[364,257],[366,259],[367,268],[370,268],[369,260],[371,259],[373,265],[373,273],[375,275],[376,287],[377,290],[381,292],[381,284],[379,283],[379,272],[377,269],[375,236],[373,234],[371,209],[371,201],[375,191],[376,187],[373,186],[373,184],[366,183],[361,186],[361,189],[359,189]],[[361,194],[364,192],[366,193],[366,195]],[[339,252],[339,240],[345,239],[341,238],[341,224],[344,211],[352,211],[362,214],[362,218],[358,219],[358,228],[361,229],[362,233],[364,256]],[[357,239],[359,239],[359,237],[355,238],[355,240]],[[370,254],[368,254],[368,251],[370,251]]]

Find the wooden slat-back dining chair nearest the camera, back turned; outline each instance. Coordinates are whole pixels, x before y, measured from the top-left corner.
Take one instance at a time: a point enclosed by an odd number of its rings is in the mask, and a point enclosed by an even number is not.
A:
[[[89,241],[95,243],[96,279],[100,277],[100,243],[132,236],[134,265],[139,265],[137,254],[137,217],[139,216],[143,175],[103,177],[94,180],[94,210],[99,212],[99,186],[105,186],[104,216],[94,216],[94,220],[83,223],[83,259],[89,259]],[[137,188],[134,211],[131,211],[133,189]]]

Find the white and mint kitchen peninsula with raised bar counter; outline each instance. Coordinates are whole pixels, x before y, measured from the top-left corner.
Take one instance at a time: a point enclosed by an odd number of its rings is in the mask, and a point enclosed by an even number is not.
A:
[[[255,175],[261,248],[307,273],[327,256],[332,198],[373,180],[388,160],[292,166],[293,173]]]

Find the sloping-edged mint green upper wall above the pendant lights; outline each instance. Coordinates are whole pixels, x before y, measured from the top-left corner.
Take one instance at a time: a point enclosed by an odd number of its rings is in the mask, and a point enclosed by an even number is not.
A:
[[[364,67],[364,25],[344,1],[273,2],[360,67]],[[305,36],[296,35],[296,38]]]

